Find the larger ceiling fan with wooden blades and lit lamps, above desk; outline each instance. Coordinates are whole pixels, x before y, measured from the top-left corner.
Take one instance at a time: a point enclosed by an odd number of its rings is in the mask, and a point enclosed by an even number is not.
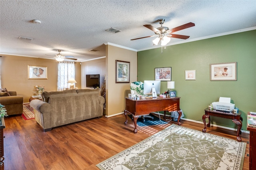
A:
[[[158,28],[155,28],[152,25],[143,25],[144,27],[154,31],[155,34],[156,34],[154,36],[158,36],[156,39],[153,40],[154,45],[158,45],[158,43],[161,41],[161,45],[165,46],[168,42],[170,42],[171,37],[186,40],[190,36],[183,36],[183,35],[172,34],[172,33],[195,26],[194,23],[189,22],[189,23],[184,24],[182,26],[178,26],[176,28],[169,29],[168,27],[163,26],[164,21],[165,21],[164,19],[159,19],[158,20],[159,24],[161,24],[161,26],[158,27]],[[149,38],[149,37],[154,37],[154,36],[146,36],[146,37],[141,37],[141,38],[135,38],[135,39],[132,39],[132,40],[138,40],[138,39]]]

